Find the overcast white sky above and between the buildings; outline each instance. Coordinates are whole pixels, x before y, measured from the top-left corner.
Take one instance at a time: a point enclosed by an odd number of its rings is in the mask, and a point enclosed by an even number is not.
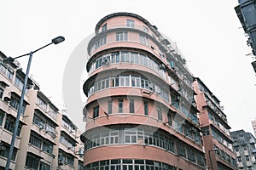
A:
[[[7,56],[29,53],[59,35],[66,37],[65,42],[34,54],[30,71],[43,93],[60,110],[67,105],[63,101],[62,79],[68,62],[75,63],[71,60],[73,51],[94,32],[102,17],[114,12],[131,12],[141,15],[177,42],[190,71],[200,77],[224,105],[231,131],[244,129],[253,133],[256,79],[251,65],[253,56],[246,56],[251,49],[247,47],[247,38],[234,9],[238,1],[24,0],[0,4],[0,50]],[[84,47],[83,53],[85,50]],[[26,71],[27,57],[18,60]],[[85,56],[81,62],[84,61]],[[73,67],[75,70],[76,65]],[[68,74],[71,80],[74,73]],[[82,74],[81,71],[76,77]],[[86,77],[81,77],[79,81],[84,79]],[[82,88],[80,84],[73,87]],[[81,96],[73,100],[85,102]],[[67,106],[67,116],[84,131],[80,106],[76,111],[70,111]]]

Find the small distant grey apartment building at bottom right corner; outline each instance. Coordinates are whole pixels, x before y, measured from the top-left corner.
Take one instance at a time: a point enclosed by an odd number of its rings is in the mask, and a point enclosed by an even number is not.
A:
[[[233,147],[236,153],[236,162],[239,169],[256,169],[256,139],[252,133],[246,133],[244,130],[237,130],[230,133],[234,143]]]

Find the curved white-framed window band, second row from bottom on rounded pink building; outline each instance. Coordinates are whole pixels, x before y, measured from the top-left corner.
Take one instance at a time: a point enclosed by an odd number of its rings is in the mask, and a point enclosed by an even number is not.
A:
[[[117,129],[102,129],[91,133],[84,142],[85,150],[106,144],[150,144],[176,153],[175,140],[169,133],[154,132],[154,129],[143,127],[120,127]],[[179,142],[183,144],[183,142]],[[193,149],[191,149],[193,150]]]

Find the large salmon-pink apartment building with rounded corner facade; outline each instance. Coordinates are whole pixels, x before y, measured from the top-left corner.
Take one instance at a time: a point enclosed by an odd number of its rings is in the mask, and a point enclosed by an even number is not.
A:
[[[86,170],[205,169],[193,77],[173,42],[137,14],[114,13],[88,53]]]

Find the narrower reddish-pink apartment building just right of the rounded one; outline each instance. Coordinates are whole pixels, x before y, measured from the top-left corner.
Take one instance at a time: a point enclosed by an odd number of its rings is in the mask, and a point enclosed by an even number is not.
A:
[[[224,114],[224,106],[220,105],[218,98],[200,78],[195,77],[194,80],[207,167],[218,170],[236,169],[236,155],[230,137],[231,127]]]

